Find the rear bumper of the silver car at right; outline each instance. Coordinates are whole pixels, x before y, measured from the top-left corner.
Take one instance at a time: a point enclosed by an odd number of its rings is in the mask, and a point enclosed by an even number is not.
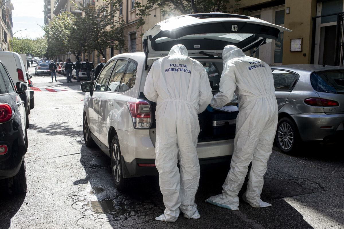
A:
[[[302,141],[323,141],[344,135],[344,114],[308,113],[291,117]]]

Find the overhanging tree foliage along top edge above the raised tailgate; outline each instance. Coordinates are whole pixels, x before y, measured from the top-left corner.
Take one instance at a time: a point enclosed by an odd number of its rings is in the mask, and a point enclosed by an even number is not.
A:
[[[136,15],[140,17],[136,28],[144,25],[149,11],[160,7],[163,17],[170,15],[182,15],[191,13],[238,13],[241,0],[147,0],[146,4],[135,2],[139,11]]]

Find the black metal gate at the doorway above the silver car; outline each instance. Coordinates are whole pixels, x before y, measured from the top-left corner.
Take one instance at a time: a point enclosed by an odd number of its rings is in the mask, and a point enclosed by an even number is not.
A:
[[[316,35],[316,19],[327,16],[337,15],[336,34],[335,34],[335,50],[334,50],[334,64],[336,66],[344,66],[344,12],[332,13],[312,18],[313,31],[312,31],[312,51],[311,51],[311,64],[314,64],[315,55],[315,35]]]

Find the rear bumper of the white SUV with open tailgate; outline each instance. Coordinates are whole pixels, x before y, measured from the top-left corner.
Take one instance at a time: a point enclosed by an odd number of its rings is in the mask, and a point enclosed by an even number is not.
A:
[[[125,165],[123,171],[125,178],[158,175],[155,167],[139,166],[139,163],[155,164],[155,148],[147,129],[117,130],[117,135],[122,164]],[[202,142],[197,145],[197,154],[201,165],[228,162],[233,154],[233,149],[233,139]]]

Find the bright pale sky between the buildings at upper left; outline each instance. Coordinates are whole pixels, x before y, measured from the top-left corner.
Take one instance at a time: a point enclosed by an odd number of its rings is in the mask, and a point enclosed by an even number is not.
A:
[[[44,25],[43,0],[11,0],[13,34],[15,37],[30,37],[32,39],[44,35],[41,26]]]

